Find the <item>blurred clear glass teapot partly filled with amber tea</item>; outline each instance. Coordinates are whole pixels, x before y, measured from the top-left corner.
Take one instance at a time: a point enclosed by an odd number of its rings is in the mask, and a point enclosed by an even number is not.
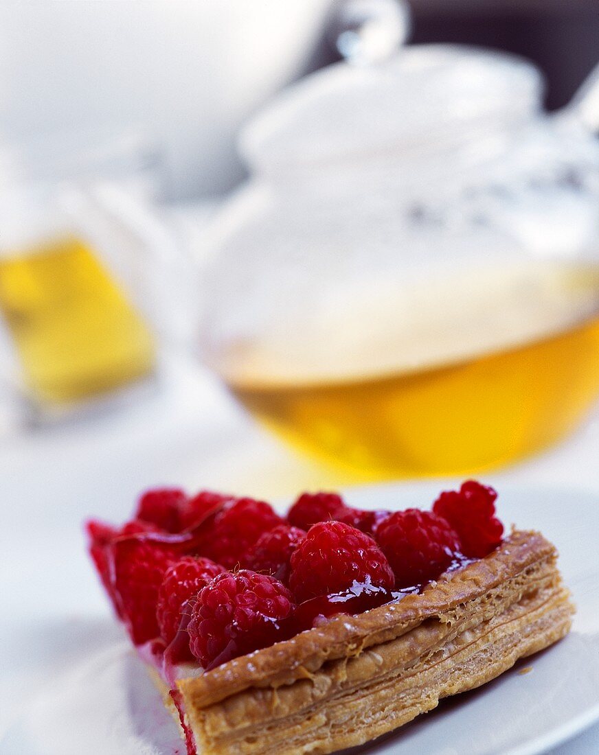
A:
[[[505,464],[599,395],[599,140],[579,103],[543,112],[517,57],[360,53],[242,133],[203,356],[267,426],[363,476]]]

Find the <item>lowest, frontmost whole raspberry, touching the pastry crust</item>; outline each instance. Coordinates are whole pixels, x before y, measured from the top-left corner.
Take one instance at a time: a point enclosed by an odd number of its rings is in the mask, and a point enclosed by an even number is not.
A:
[[[190,648],[204,668],[272,645],[279,621],[293,610],[292,594],[269,575],[241,569],[224,572],[199,593],[187,631]]]

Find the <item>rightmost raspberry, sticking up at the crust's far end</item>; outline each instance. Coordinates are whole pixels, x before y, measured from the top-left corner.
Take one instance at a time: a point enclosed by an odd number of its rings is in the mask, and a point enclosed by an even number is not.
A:
[[[458,533],[465,556],[482,559],[501,543],[503,525],[495,516],[496,498],[493,488],[468,480],[459,492],[443,492],[434,502],[434,513]]]

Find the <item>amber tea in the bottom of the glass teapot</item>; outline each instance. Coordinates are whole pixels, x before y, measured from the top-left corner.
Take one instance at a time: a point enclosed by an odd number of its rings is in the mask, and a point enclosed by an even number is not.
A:
[[[395,370],[315,380],[269,370],[264,345],[255,344],[224,374],[237,398],[276,433],[366,477],[505,464],[560,439],[599,395],[599,270],[552,275],[563,276],[562,294],[571,294],[573,305],[579,297],[579,317],[564,312],[551,332],[531,328],[519,343],[499,345],[497,338],[493,347],[487,338],[486,349],[468,356],[446,353],[434,364],[415,366],[412,359]]]

